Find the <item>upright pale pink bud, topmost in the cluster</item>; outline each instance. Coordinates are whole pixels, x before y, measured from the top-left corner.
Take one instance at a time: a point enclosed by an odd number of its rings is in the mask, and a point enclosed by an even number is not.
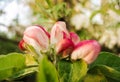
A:
[[[51,43],[56,44],[58,41],[62,40],[64,37],[70,38],[69,32],[66,29],[65,22],[58,21],[55,23],[51,30]]]

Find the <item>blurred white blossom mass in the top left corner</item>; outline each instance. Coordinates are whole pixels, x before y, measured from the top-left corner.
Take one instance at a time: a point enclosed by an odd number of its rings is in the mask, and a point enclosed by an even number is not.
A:
[[[0,32],[4,31],[8,38],[14,37],[17,32],[22,34],[24,28],[32,24],[32,10],[25,0],[4,0],[0,4],[4,12],[0,15]]]

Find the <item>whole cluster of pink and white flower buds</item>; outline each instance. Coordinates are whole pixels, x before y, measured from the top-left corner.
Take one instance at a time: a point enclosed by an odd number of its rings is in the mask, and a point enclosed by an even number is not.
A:
[[[37,53],[48,51],[54,46],[56,56],[69,57],[70,60],[83,59],[92,63],[100,52],[100,45],[95,40],[80,41],[79,36],[69,32],[65,22],[58,21],[48,33],[42,26],[30,26],[24,31],[23,40],[19,47],[24,50],[25,45],[31,45]]]

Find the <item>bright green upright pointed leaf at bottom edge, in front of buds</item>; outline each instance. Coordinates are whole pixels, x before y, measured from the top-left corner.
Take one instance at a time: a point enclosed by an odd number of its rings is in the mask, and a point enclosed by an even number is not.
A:
[[[46,57],[40,59],[37,80],[37,82],[58,82],[56,68]]]

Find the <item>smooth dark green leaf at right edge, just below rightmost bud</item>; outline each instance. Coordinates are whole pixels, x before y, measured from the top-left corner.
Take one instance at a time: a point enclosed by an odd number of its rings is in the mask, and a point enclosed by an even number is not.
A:
[[[90,65],[90,68],[96,65],[106,65],[120,71],[120,57],[113,53],[101,52],[96,61]]]

